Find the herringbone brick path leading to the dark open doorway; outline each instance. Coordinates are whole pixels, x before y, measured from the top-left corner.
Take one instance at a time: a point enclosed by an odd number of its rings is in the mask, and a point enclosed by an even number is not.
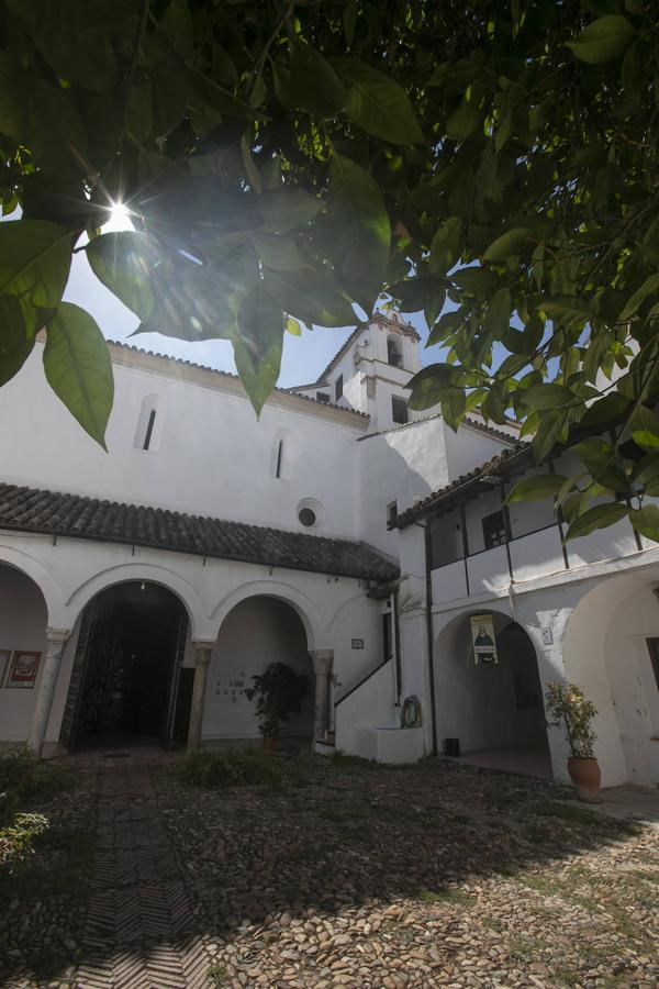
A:
[[[208,985],[210,958],[144,763],[103,773],[90,887],[75,986]]]

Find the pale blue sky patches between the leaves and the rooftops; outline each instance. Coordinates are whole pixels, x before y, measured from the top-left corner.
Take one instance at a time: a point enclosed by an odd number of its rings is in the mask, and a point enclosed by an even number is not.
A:
[[[64,296],[69,302],[76,302],[92,314],[108,340],[123,341],[137,327],[139,320],[126,307],[119,301],[94,276],[83,251],[74,255],[71,274]],[[405,316],[425,341],[427,327],[421,313],[410,318]],[[302,336],[291,336],[284,333],[283,358],[281,362],[281,375],[279,385],[288,388],[292,385],[304,385],[314,381],[323,368],[328,364],[334,354],[339,349],[344,341],[354,327],[345,330],[324,330],[319,327],[312,331],[302,331]],[[228,341],[210,340],[199,343],[171,340],[160,336],[159,333],[141,334],[129,343],[135,344],[145,351],[155,351],[197,364],[204,364],[220,370],[235,374],[232,347]],[[421,351],[424,364],[431,363],[434,352]]]

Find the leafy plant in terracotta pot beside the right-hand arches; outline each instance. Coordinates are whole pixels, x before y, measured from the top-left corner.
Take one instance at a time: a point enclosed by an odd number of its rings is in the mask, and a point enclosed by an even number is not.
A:
[[[589,803],[596,803],[600,799],[601,775],[594,752],[597,736],[592,729],[592,720],[597,713],[595,705],[584,698],[579,687],[560,682],[548,685],[545,704],[554,719],[547,723],[565,727],[570,746],[568,773],[578,797]]]

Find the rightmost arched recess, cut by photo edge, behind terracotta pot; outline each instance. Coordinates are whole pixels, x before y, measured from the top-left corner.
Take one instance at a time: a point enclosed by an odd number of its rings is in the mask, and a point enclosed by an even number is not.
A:
[[[566,677],[597,709],[605,787],[659,784],[659,568],[654,579],[646,575],[602,580],[566,626]]]

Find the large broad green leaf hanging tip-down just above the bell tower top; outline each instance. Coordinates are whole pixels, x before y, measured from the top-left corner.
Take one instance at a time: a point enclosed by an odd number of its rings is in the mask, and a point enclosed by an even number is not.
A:
[[[389,265],[391,226],[382,192],[368,171],[335,154],[327,210],[340,281],[370,314]]]

